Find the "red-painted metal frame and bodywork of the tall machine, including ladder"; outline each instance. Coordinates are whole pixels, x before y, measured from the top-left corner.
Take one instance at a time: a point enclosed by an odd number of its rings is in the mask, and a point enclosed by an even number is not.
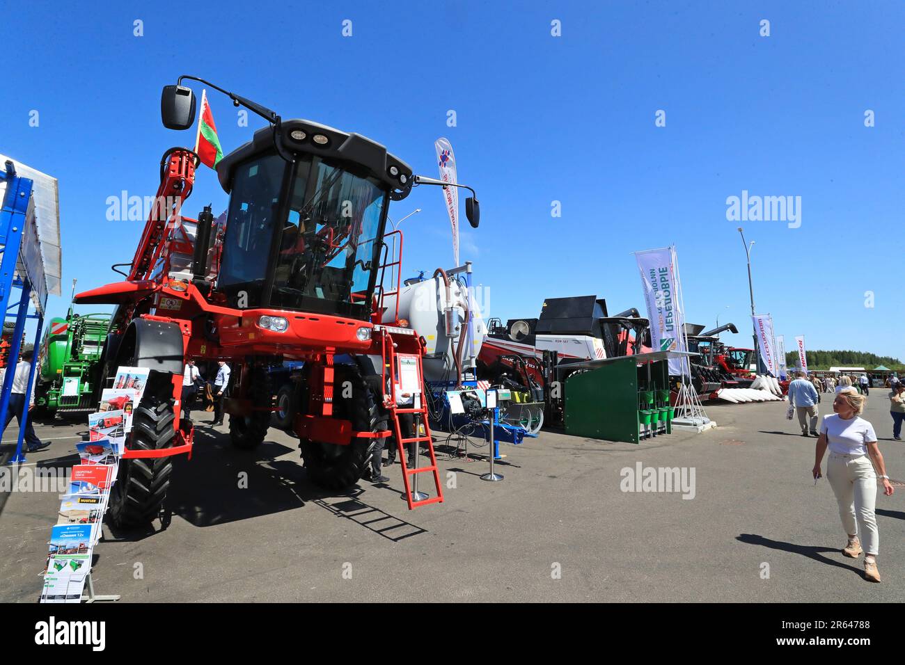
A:
[[[182,230],[181,208],[191,194],[195,182],[195,156],[186,149],[173,151],[167,158],[163,179],[157,189],[157,201],[169,201],[172,206],[165,208],[155,206],[148,214],[148,221],[138,243],[138,249],[131,264],[129,276],[125,281],[108,284],[98,289],[84,291],[76,297],[79,303],[119,304],[125,307],[123,318],[125,328],[134,318],[175,323],[183,336],[184,357],[233,360],[241,363],[243,372],[247,370],[247,356],[283,356],[291,359],[309,361],[320,371],[310,373],[311,404],[308,414],[296,417],[295,431],[303,437],[319,442],[336,445],[348,445],[353,438],[386,438],[389,430],[381,432],[357,432],[352,423],[333,417],[333,381],[335,370],[333,357],[336,354],[373,354],[383,358],[383,384],[386,390],[386,366],[395,367],[397,354],[411,355],[418,358],[418,372],[423,372],[421,356],[424,344],[414,332],[406,328],[386,328],[376,325],[382,317],[383,303],[387,296],[395,296],[393,323],[398,323],[399,295],[402,292],[402,250],[403,235],[400,231],[385,233],[382,241],[387,247],[386,260],[378,267],[378,284],[375,290],[374,310],[370,321],[353,318],[342,318],[329,315],[299,312],[281,309],[234,309],[225,306],[222,294],[214,292],[208,300],[205,295],[190,281],[171,280],[169,278],[168,260],[172,252],[192,252],[191,243],[187,241]],[[195,220],[186,220],[192,221]],[[220,227],[214,222],[214,233]],[[398,251],[389,256],[387,238],[399,236]],[[219,238],[219,235],[217,236]],[[333,237],[332,230],[328,238],[329,246],[337,252],[345,246],[344,236]],[[219,241],[214,242],[215,250],[219,249]],[[163,263],[163,270],[158,271],[158,264]],[[384,290],[386,269],[395,270],[394,290]],[[215,270],[215,269],[214,269]],[[153,279],[152,279],[153,276]],[[151,309],[154,314],[151,314]],[[282,332],[274,332],[260,328],[257,323],[262,316],[286,318],[289,328]],[[205,335],[195,320],[210,321],[216,328],[217,341]],[[371,334],[366,340],[357,336],[359,328],[370,328]],[[125,329],[119,329],[120,334]],[[376,333],[376,334],[375,334]],[[395,370],[392,370],[395,371]],[[242,375],[239,375],[242,377]],[[244,385],[240,381],[240,385]],[[426,404],[422,402],[420,409],[398,409],[395,404],[395,382],[391,382],[391,395],[384,394],[384,403],[393,415],[393,427],[396,442],[399,446],[403,463],[406,499],[409,508],[416,508],[428,503],[443,501],[443,489],[436,467],[431,433],[428,425]],[[175,398],[176,428],[175,445],[157,451],[126,450],[125,459],[159,459],[178,454],[188,454],[191,458],[194,432],[184,432],[180,427],[182,392],[182,375],[173,375],[173,395]],[[226,413],[251,413],[252,404],[240,394],[226,400]],[[421,413],[425,428],[424,436],[402,439],[398,414]],[[406,443],[428,442],[431,465],[420,469],[408,469],[405,465],[403,446]],[[437,496],[425,501],[412,501],[410,478],[415,473],[433,472]]]

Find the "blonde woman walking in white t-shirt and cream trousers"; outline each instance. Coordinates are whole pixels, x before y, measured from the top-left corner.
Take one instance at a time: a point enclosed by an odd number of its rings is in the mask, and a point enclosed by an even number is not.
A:
[[[824,416],[820,427],[813,473],[814,480],[820,478],[820,463],[829,448],[826,479],[833,488],[839,504],[839,517],[848,535],[843,555],[857,558],[864,552],[864,579],[880,582],[880,571],[877,569],[880,532],[874,513],[877,473],[883,480],[883,494],[889,497],[893,489],[890,477],[886,475],[873,426],[860,417],[866,399],[851,386],[836,394],[833,401],[835,413]]]

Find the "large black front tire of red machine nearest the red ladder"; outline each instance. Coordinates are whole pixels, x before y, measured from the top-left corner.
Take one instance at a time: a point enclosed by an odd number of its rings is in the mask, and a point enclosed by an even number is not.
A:
[[[342,386],[350,382],[350,397],[343,397]],[[352,423],[356,432],[379,432],[386,429],[386,414],[376,402],[373,388],[357,368],[336,366],[333,398],[334,415]],[[307,403],[303,402],[307,406]],[[299,447],[308,477],[315,485],[331,491],[347,489],[357,483],[367,470],[375,439],[354,438],[346,446],[302,439]]]

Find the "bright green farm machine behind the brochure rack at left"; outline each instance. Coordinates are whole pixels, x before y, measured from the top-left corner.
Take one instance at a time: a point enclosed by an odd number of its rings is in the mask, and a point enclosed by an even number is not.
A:
[[[50,414],[93,411],[100,356],[110,328],[109,314],[52,318],[41,342],[34,405]]]

